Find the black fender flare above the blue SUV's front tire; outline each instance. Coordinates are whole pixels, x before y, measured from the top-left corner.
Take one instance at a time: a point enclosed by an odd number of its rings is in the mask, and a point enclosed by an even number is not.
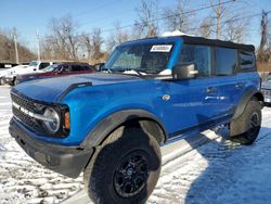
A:
[[[167,135],[165,131],[165,127],[154,114],[144,110],[124,110],[115,112],[101,120],[87,135],[86,139],[80,143],[80,148],[89,149],[100,145],[113,130],[118,128],[121,124],[132,119],[146,119],[158,125],[165,136],[164,141],[166,140]]]

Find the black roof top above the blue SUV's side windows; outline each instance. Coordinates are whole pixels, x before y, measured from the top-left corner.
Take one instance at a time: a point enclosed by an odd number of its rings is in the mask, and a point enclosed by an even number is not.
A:
[[[238,49],[238,50],[248,51],[248,52],[255,51],[255,47],[253,44],[234,43],[232,41],[207,39],[207,38],[194,37],[194,36],[180,36],[180,37],[183,39],[184,43],[189,43],[189,44],[203,44],[203,46],[233,48],[233,49]]]

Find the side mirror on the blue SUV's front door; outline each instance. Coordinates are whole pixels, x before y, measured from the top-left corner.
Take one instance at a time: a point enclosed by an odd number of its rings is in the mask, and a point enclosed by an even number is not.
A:
[[[197,74],[194,63],[177,64],[172,69],[173,79],[195,78]]]

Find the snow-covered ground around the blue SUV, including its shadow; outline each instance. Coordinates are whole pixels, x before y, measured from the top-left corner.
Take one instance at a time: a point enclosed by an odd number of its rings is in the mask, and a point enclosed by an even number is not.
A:
[[[9,136],[10,107],[9,87],[0,87],[0,203],[60,203],[78,196],[81,177],[44,169]],[[172,148],[163,156],[162,175],[147,203],[270,203],[271,107],[262,113],[259,138],[250,146],[216,137],[182,156]],[[77,203],[90,203],[83,191]]]

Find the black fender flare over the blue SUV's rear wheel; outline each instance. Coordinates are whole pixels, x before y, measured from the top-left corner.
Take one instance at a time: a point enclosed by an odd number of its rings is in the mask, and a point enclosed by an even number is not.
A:
[[[235,113],[233,115],[233,119],[242,115],[242,113],[245,111],[248,101],[251,100],[254,97],[257,98],[258,101],[263,102],[263,94],[259,90],[255,88],[248,88],[238,101],[237,107],[235,109]]]

